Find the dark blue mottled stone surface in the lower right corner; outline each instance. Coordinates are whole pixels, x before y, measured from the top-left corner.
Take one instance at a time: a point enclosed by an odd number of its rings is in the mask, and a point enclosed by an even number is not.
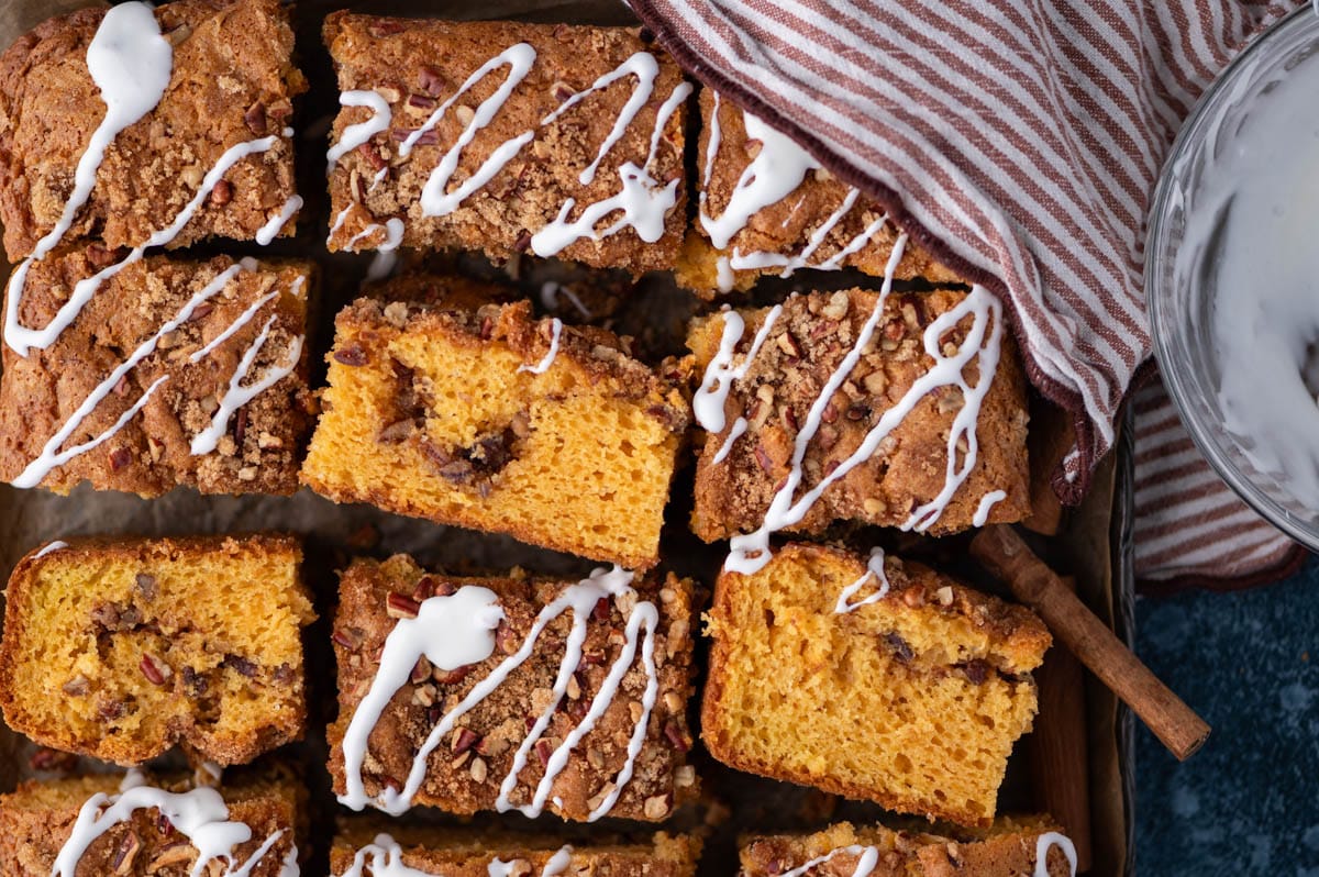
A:
[[[1136,604],[1141,658],[1213,727],[1136,745],[1142,877],[1319,877],[1319,560],[1273,586]]]

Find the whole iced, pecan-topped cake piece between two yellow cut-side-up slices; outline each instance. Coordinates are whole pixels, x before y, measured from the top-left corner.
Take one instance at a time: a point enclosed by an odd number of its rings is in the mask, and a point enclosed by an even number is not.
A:
[[[691,615],[690,582],[617,567],[563,582],[353,562],[334,625],[340,803],[666,819],[696,794]]]

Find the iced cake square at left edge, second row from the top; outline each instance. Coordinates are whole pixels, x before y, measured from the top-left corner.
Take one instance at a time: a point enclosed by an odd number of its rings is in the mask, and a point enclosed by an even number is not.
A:
[[[67,493],[293,493],[311,426],[310,262],[152,256],[84,301],[96,247],[7,298],[0,480]],[[41,335],[24,353],[16,339]]]

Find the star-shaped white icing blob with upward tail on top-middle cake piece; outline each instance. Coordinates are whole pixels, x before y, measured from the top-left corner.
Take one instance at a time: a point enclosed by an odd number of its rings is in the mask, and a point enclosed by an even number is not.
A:
[[[568,214],[576,206],[575,198],[563,202],[559,215],[538,232],[532,235],[532,252],[537,256],[557,256],[566,247],[582,237],[600,240],[617,233],[623,228],[630,227],[637,237],[648,244],[653,244],[663,236],[665,218],[674,204],[678,203],[678,179],[673,179],[667,186],[661,186],[650,177],[649,167],[660,152],[660,138],[665,125],[678,107],[691,94],[691,86],[686,82],[674,87],[669,99],[660,106],[656,115],[656,127],[650,135],[650,152],[646,153],[646,162],[637,167],[630,161],[623,162],[619,167],[619,179],[623,189],[615,195],[588,204],[582,215],[568,222]],[[630,106],[630,102],[629,104]],[[621,211],[623,216],[604,231],[596,231],[596,223],[605,216]]]

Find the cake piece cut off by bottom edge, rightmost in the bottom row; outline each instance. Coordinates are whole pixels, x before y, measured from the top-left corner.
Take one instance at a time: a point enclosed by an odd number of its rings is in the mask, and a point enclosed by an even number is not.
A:
[[[839,823],[813,835],[748,839],[741,877],[1075,877],[1071,841],[1047,816],[1000,818],[977,831],[892,831]],[[1041,855],[1045,868],[1039,868]]]

